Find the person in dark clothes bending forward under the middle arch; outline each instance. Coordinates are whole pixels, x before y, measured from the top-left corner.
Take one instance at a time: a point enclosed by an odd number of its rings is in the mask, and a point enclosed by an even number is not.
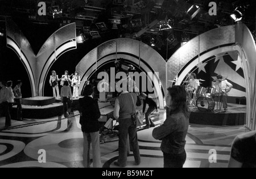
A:
[[[144,126],[144,128],[149,129],[150,127],[155,127],[154,122],[150,118],[150,114],[154,112],[154,110],[158,112],[158,105],[152,98],[148,97],[145,93],[141,93],[139,97],[141,98],[141,100],[143,100],[143,113],[145,113],[146,105],[148,104],[148,109],[145,114],[146,126]]]

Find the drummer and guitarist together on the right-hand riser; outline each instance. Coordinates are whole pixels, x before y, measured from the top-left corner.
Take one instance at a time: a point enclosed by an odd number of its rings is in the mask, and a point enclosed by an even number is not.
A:
[[[188,78],[189,80],[184,82],[187,83],[185,88],[188,93],[188,104],[197,106],[197,98],[199,95],[207,95],[207,88],[202,87],[205,91],[202,90],[200,87],[200,81],[204,80],[197,79],[195,73],[190,74]],[[211,97],[213,97],[217,102],[221,103],[221,105],[223,104],[223,108],[226,112],[228,110],[228,93],[232,90],[233,85],[229,83],[228,80],[223,79],[222,75],[217,75],[217,79],[214,80],[214,82],[213,87],[208,88],[210,94],[212,95]],[[200,92],[200,90],[203,92]]]

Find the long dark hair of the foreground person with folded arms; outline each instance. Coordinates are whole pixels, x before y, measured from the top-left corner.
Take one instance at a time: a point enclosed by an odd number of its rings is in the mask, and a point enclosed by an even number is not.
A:
[[[173,86],[167,89],[172,97],[171,114],[182,112],[185,117],[190,116],[187,105],[187,92],[182,86]]]

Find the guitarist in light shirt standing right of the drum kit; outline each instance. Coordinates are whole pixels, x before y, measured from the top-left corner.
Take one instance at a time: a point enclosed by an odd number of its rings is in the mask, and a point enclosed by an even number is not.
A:
[[[225,112],[228,110],[228,93],[232,90],[233,85],[228,82],[228,80],[223,79],[222,75],[217,76],[217,82],[214,83],[214,87],[217,90],[217,95],[220,96],[220,102],[223,103],[223,108]]]

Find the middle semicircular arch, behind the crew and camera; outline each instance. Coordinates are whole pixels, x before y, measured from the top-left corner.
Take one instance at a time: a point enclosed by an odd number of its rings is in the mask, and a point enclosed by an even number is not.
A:
[[[82,80],[88,79],[101,65],[113,61],[113,59],[124,58],[140,67],[144,72],[152,72],[160,82],[166,80],[166,62],[158,52],[140,41],[132,39],[115,39],[101,44],[86,54],[76,67],[76,71],[82,76]],[[159,75],[158,75],[159,74]],[[148,77],[150,78],[150,77]],[[151,79],[151,78],[150,78]],[[164,108],[162,90],[158,92],[159,81],[155,83],[156,97],[159,97],[159,106]],[[84,87],[81,84],[80,94]],[[163,86],[163,88],[166,88]]]

